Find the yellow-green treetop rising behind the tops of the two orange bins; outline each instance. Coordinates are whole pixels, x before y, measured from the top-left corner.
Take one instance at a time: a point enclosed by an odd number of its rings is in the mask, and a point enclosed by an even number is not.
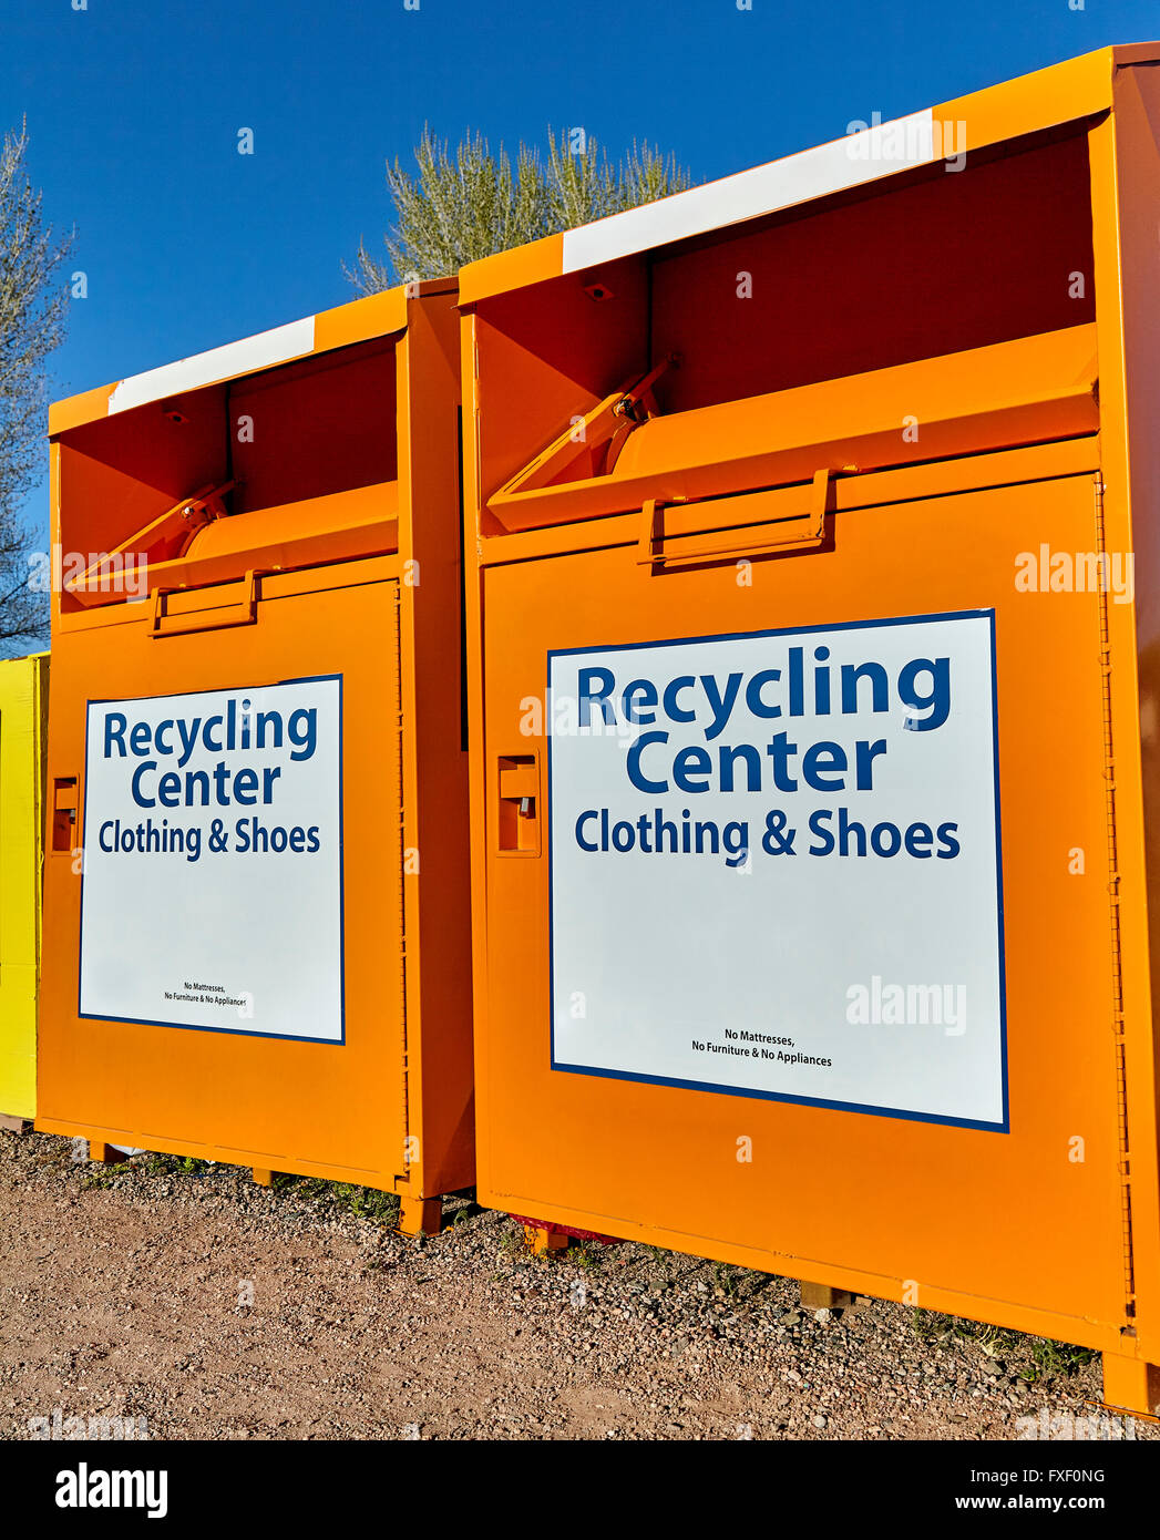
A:
[[[621,209],[652,203],[690,186],[673,156],[633,140],[612,165],[588,134],[575,148],[548,129],[547,154],[521,143],[515,163],[482,134],[468,134],[454,151],[428,129],[414,146],[416,171],[399,160],[387,166],[394,223],[385,237],[387,260],[359,242],[347,277],[360,294],[393,283],[436,279],[495,251],[573,229]]]

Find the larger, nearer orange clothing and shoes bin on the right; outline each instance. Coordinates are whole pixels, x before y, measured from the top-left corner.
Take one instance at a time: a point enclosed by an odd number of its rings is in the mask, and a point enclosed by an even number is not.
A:
[[[468,266],[481,1201],[1157,1408],[1160,45]]]

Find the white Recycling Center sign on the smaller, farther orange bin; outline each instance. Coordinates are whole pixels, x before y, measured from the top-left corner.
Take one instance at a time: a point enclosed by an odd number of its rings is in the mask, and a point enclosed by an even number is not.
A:
[[[344,1041],[339,678],[89,701],[80,1015]]]

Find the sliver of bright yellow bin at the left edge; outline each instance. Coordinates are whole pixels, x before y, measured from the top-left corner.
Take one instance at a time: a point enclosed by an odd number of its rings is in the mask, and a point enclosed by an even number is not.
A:
[[[48,653],[0,661],[0,1126],[37,1101]]]

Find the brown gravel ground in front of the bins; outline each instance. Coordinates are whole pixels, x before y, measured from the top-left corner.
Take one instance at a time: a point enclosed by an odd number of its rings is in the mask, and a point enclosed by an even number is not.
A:
[[[1060,1437],[1100,1394],[1098,1360],[1038,1338],[815,1315],[790,1280],[647,1246],[536,1258],[467,1198],[416,1241],[362,1189],[72,1157],[0,1132],[3,1438],[54,1414],[154,1440]]]

